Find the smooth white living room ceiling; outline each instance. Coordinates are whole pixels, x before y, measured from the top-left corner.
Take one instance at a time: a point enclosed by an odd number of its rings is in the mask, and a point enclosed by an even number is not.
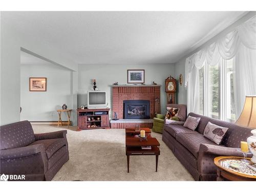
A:
[[[173,63],[246,12],[8,12],[76,63]],[[33,50],[30,50],[33,51]],[[38,53],[40,54],[40,53]]]

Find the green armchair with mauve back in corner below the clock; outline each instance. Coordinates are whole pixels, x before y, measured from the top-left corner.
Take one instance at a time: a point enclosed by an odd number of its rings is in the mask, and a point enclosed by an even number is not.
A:
[[[187,106],[185,104],[167,104],[166,108],[179,108],[179,115],[181,121],[186,120],[186,114],[187,114]],[[164,124],[164,118],[165,115],[163,114],[157,114],[156,117],[153,119],[153,128],[152,130],[154,132],[162,133],[163,132],[163,124]]]

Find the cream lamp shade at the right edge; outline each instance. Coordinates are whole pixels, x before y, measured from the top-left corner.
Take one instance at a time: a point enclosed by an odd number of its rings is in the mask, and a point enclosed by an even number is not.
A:
[[[244,109],[236,123],[240,126],[256,128],[256,95],[246,96]]]

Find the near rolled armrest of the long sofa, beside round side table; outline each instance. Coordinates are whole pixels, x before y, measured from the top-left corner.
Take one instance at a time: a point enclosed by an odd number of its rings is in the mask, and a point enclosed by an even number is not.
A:
[[[238,151],[239,148],[232,148],[211,144],[200,144],[199,153],[208,153],[216,156],[239,156],[243,157],[243,153]]]

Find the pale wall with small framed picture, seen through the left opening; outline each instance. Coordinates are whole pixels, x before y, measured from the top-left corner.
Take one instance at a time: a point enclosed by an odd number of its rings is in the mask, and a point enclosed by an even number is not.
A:
[[[46,92],[29,91],[29,77],[47,77]],[[20,65],[20,120],[57,121],[63,103],[73,109],[72,72],[52,65]],[[67,120],[67,114],[62,114]]]

